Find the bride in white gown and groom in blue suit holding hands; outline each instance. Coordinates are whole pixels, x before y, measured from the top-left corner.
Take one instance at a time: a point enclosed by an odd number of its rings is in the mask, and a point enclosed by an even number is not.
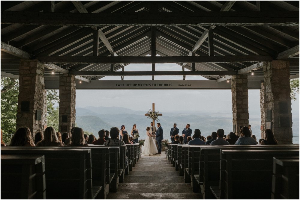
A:
[[[150,156],[154,154],[161,154],[161,140],[164,139],[163,136],[163,128],[161,127],[161,123],[157,123],[157,128],[153,126],[153,122],[150,123],[150,127],[146,128],[146,140],[144,142],[144,150],[142,151],[142,155]],[[156,148],[155,140],[158,144],[158,149]]]

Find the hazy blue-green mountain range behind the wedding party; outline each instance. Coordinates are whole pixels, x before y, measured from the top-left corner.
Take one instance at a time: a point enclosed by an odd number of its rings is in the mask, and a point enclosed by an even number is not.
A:
[[[121,128],[121,125],[125,125],[125,129],[130,133],[132,126],[136,124],[140,139],[145,139],[146,127],[150,126],[150,122],[152,122],[145,116],[145,113],[124,107],[76,107],[76,124],[84,131],[92,132],[97,137],[99,130],[110,130],[111,127]],[[158,119],[164,129],[164,139],[170,139],[169,133],[174,123],[177,124],[179,133],[186,124],[190,124],[193,131],[198,128],[201,135],[205,137],[219,128],[223,128],[225,134],[232,131],[232,113],[163,112],[163,116],[159,116]],[[249,123],[252,133],[260,138],[260,116],[253,117],[250,115]],[[299,116],[293,116],[293,133],[294,136],[299,136]],[[299,141],[299,138],[295,139]]]

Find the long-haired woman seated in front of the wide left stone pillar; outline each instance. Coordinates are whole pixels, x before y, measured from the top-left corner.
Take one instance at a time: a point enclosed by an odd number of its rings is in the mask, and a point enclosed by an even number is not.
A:
[[[9,146],[35,146],[29,128],[18,128],[11,138]]]

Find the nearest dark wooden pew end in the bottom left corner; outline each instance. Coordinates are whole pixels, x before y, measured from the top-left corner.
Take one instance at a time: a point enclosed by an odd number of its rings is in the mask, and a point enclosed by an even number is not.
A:
[[[1,155],[1,199],[46,199],[45,157]]]

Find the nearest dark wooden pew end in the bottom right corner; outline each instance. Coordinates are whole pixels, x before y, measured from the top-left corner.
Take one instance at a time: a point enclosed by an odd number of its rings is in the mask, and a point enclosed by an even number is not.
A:
[[[299,199],[299,157],[274,157],[271,199]]]

